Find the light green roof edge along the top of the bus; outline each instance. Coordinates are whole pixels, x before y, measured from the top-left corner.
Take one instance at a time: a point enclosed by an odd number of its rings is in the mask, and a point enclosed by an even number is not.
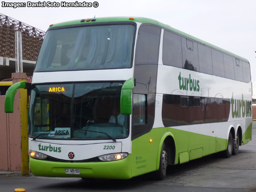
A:
[[[145,17],[132,17],[133,20],[130,19],[131,17],[100,17],[100,18],[88,18],[88,19],[91,19],[90,21],[82,21],[81,19],[80,20],[72,20],[72,21],[66,21],[66,22],[61,22],[61,23],[57,23],[57,24],[54,24],[52,25],[51,27],[49,28],[53,28],[53,27],[60,27],[60,26],[68,26],[68,25],[77,25],[77,24],[83,24],[83,23],[101,23],[101,22],[116,22],[116,21],[131,21],[131,22],[139,22],[139,23],[152,23],[152,24],[155,24],[155,25],[159,25],[161,27],[164,27],[164,28],[167,28],[173,32],[176,32],[182,36],[185,36],[185,37],[188,37],[190,39],[193,39],[201,44],[204,44],[204,45],[207,45],[207,46],[210,46],[214,49],[217,49],[217,50],[220,50],[222,52],[225,52],[229,55],[232,55],[234,57],[236,57],[237,59],[241,59],[241,60],[244,60],[246,62],[249,62],[247,59],[243,58],[243,57],[240,57],[232,52],[229,52],[227,50],[224,50],[220,47],[217,47],[213,44],[210,44],[210,43],[207,43],[201,39],[198,39],[194,36],[191,36],[187,33],[184,33],[178,29],[175,29],[175,28],[172,28],[171,26],[169,25],[166,25],[166,24],[163,24],[161,22],[158,22],[157,20],[153,20],[153,19],[148,19],[148,18],[145,18]],[[92,21],[92,19],[95,19],[95,21]]]

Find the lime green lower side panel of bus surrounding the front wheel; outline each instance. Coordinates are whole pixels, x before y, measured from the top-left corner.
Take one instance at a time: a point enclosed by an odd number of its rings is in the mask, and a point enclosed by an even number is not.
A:
[[[195,159],[227,148],[227,139],[170,127],[154,128],[150,132],[132,140],[132,176],[155,171],[159,168],[159,163],[157,162],[160,160],[161,147],[167,135],[172,135],[176,145],[175,164],[179,164],[179,153],[182,152],[188,151],[188,154],[190,154],[190,150],[203,148],[202,155],[193,156],[193,159]],[[151,143],[149,139],[152,139]]]

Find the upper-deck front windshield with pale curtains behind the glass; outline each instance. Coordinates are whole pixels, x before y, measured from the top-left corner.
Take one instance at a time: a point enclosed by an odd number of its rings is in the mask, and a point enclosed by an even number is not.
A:
[[[131,24],[49,30],[35,71],[130,68],[134,30]]]

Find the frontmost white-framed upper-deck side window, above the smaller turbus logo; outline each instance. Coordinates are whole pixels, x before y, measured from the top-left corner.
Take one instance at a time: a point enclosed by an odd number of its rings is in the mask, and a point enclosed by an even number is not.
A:
[[[181,37],[164,30],[163,64],[182,68]]]

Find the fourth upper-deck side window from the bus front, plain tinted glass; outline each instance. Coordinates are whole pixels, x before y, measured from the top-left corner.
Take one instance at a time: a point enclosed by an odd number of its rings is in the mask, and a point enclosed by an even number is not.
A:
[[[212,49],[212,68],[213,75],[225,77],[223,53],[215,49]]]

